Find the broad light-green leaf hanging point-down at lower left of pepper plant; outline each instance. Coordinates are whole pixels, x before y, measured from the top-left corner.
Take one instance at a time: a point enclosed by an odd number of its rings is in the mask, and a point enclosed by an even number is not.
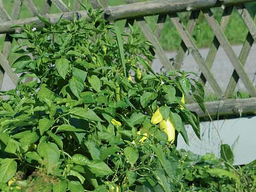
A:
[[[37,146],[38,154],[43,157],[44,165],[48,172],[53,171],[56,168],[56,164],[59,160],[60,152],[59,148],[54,143],[40,143]]]

